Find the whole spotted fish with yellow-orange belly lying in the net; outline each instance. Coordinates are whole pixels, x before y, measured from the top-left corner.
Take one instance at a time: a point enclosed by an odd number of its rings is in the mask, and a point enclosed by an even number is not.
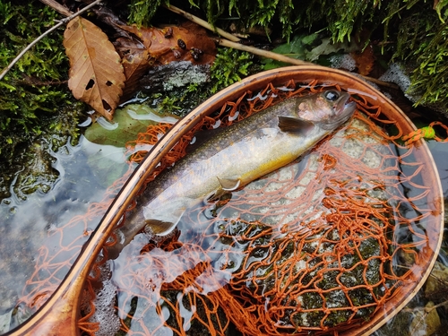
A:
[[[349,93],[324,90],[265,108],[196,146],[172,168],[162,171],[137,198],[137,207],[116,228],[108,247],[114,259],[145,228],[166,236],[198,202],[213,202],[297,159],[353,115]]]

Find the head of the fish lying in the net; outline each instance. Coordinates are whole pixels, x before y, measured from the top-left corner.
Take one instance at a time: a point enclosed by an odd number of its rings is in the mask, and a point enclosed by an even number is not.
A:
[[[340,90],[315,93],[300,100],[297,116],[325,130],[334,130],[349,120],[357,107],[349,99],[349,93]]]

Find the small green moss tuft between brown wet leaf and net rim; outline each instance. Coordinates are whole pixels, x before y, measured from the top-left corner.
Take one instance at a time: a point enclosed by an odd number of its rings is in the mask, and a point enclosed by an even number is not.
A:
[[[219,48],[216,60],[211,65],[211,93],[215,93],[246,76],[252,61],[249,53],[232,48]]]

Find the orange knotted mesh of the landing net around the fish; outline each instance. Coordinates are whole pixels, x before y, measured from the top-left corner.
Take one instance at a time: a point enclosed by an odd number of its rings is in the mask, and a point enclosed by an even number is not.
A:
[[[291,81],[246,92],[204,117],[147,182],[185,155],[198,130],[329,88],[340,90]],[[111,334],[108,326],[116,325],[115,332],[129,335],[336,335],[393,299],[428,244],[430,186],[418,149],[403,143],[399,124],[362,95],[352,98],[358,111],[350,124],[305,157],[231,197],[186,211],[171,236],[149,240],[141,233],[115,261],[101,259],[84,289],[82,332]],[[155,144],[169,127],[139,134],[129,144],[131,159],[142,160],[146,153],[134,147]],[[61,229],[58,252],[42,250],[25,303],[39,306],[53,292],[77,255],[70,252],[79,253],[89,225],[125,178],[65,226],[77,228],[77,239],[65,242]],[[108,304],[99,301],[105,289]],[[98,316],[105,311],[107,318]]]

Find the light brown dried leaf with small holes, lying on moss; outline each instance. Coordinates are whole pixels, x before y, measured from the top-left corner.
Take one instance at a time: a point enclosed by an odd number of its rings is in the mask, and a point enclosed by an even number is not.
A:
[[[64,47],[70,59],[68,87],[102,116],[112,116],[125,86],[120,56],[108,36],[82,17],[68,23]]]

